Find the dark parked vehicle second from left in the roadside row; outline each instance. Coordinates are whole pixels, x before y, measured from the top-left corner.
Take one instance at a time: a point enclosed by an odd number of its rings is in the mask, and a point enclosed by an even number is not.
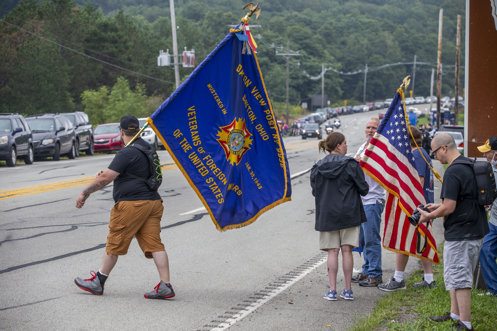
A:
[[[59,114],[30,115],[26,122],[33,133],[35,157],[53,156],[59,161],[61,154],[76,157],[76,134],[71,121]]]

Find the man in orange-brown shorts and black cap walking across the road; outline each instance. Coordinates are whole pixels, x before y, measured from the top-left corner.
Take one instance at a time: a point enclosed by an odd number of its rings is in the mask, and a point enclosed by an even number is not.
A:
[[[140,124],[136,117],[124,116],[119,127],[123,144],[127,145],[139,130]],[[141,137],[133,144],[146,148],[150,146],[150,143]],[[91,278],[77,277],[74,280],[82,290],[102,295],[105,281],[116,265],[117,258],[128,253],[131,240],[135,237],[145,257],[154,259],[161,278],[161,282],[152,292],[145,293],[145,298],[168,299],[175,295],[169,283],[169,260],[160,235],[163,200],[157,190],[152,190],[145,181],[139,179],[150,177],[149,162],[147,155],[138,148],[129,146],[121,149],[109,167],[105,171],[100,170],[95,180],[76,199],[76,207],[82,208],[85,196],[114,181],[112,198],[115,205],[110,211],[110,230],[102,264],[96,274],[94,271],[90,272]]]

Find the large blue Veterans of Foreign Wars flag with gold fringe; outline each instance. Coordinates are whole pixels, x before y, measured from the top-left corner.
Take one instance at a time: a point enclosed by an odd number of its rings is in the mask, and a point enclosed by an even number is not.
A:
[[[291,200],[262,73],[239,37],[229,33],[148,120],[220,231]]]

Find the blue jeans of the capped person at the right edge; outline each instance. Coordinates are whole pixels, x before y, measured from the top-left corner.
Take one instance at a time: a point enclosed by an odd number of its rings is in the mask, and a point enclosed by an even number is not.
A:
[[[489,228],[480,251],[480,265],[489,292],[497,293],[497,226],[489,223]]]

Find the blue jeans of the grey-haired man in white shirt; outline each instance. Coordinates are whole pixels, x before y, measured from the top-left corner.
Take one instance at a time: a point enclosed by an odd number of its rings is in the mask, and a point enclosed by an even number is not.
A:
[[[381,269],[381,213],[385,206],[376,201],[374,204],[365,204],[367,222],[361,224],[359,243],[364,250],[364,265],[362,273],[371,278],[379,278],[383,274]],[[366,235],[364,235],[366,234]]]

